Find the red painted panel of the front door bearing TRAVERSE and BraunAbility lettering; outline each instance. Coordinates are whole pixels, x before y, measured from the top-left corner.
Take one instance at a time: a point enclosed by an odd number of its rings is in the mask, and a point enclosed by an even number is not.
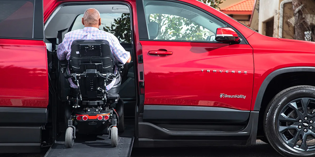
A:
[[[250,110],[254,63],[249,45],[175,41],[140,43],[144,60],[145,105]],[[166,57],[148,54],[158,49],[173,54]],[[246,95],[246,99],[220,98],[220,94]]]

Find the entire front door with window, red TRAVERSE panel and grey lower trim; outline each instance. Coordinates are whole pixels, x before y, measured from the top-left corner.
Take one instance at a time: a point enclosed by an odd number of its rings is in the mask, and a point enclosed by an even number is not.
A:
[[[180,1],[143,0],[137,12],[144,120],[238,123],[249,118],[254,63],[244,38],[240,44],[214,41],[217,28],[230,26]]]

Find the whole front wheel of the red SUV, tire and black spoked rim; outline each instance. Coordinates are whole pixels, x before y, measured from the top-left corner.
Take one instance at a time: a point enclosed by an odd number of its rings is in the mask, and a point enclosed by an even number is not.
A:
[[[286,157],[315,156],[315,145],[312,147],[306,144],[315,138],[313,102],[315,103],[315,87],[306,85],[284,89],[270,101],[263,119],[264,132],[278,153]],[[303,144],[298,145],[300,139],[303,139]]]

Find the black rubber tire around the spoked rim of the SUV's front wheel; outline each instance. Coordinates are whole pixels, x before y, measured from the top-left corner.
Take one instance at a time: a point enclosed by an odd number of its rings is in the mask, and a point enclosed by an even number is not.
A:
[[[280,137],[278,132],[278,116],[281,110],[286,106],[289,102],[299,99],[299,98],[313,98],[315,99],[315,90],[313,88],[309,88],[309,86],[305,86],[302,88],[294,89],[294,87],[290,88],[284,93],[275,96],[271,103],[269,104],[269,110],[266,111],[266,118],[264,118],[267,122],[267,127],[265,127],[265,132],[270,143],[276,146],[275,149],[279,149],[279,151],[286,154],[286,156],[314,156],[315,151],[312,152],[304,152],[299,151],[294,148],[288,146]]]

